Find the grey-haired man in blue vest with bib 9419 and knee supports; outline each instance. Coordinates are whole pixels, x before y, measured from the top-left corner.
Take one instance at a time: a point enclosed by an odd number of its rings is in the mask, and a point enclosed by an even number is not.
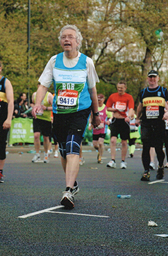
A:
[[[92,124],[100,124],[96,82],[99,82],[90,57],[79,52],[82,35],[75,25],[67,25],[58,37],[64,52],[51,57],[40,76],[40,87],[32,114],[40,111],[40,102],[54,82],[53,101],[54,134],[59,144],[62,167],[65,171],[66,189],[61,204],[67,209],[74,207],[74,195],[78,192],[80,144],[86,124],[93,111]]]

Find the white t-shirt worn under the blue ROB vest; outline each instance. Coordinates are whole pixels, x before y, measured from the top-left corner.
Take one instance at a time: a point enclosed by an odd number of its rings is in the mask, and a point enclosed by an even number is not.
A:
[[[65,67],[75,67],[77,65],[78,59],[80,58],[81,52],[78,52],[78,56],[74,59],[68,59],[63,52],[63,64]],[[53,69],[55,66],[55,60],[57,55],[52,56],[45,66],[44,71],[42,72],[39,82],[42,86],[50,87],[53,82]],[[86,57],[86,70],[87,70],[87,82],[88,87],[93,88],[96,86],[96,82],[99,82],[98,75],[95,70],[95,65],[90,57]]]

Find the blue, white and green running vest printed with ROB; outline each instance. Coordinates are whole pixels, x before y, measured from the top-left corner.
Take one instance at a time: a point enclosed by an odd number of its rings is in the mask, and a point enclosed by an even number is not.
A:
[[[86,56],[81,54],[75,67],[65,67],[63,52],[58,54],[53,69],[55,96],[53,112],[68,114],[91,106],[87,84]]]

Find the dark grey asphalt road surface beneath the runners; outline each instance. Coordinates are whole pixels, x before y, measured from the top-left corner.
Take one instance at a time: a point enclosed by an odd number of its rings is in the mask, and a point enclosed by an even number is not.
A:
[[[83,150],[73,210],[60,207],[65,189],[60,158],[51,155],[49,164],[33,164],[33,154],[7,155],[0,184],[0,255],[168,255],[168,237],[156,236],[168,234],[168,170],[164,181],[149,184],[140,180],[141,150],[126,159],[126,170],[119,169],[119,150],[116,169],[106,167],[108,151],[97,164],[95,150]],[[118,194],[131,198],[118,199]],[[157,227],[149,227],[150,220]]]

